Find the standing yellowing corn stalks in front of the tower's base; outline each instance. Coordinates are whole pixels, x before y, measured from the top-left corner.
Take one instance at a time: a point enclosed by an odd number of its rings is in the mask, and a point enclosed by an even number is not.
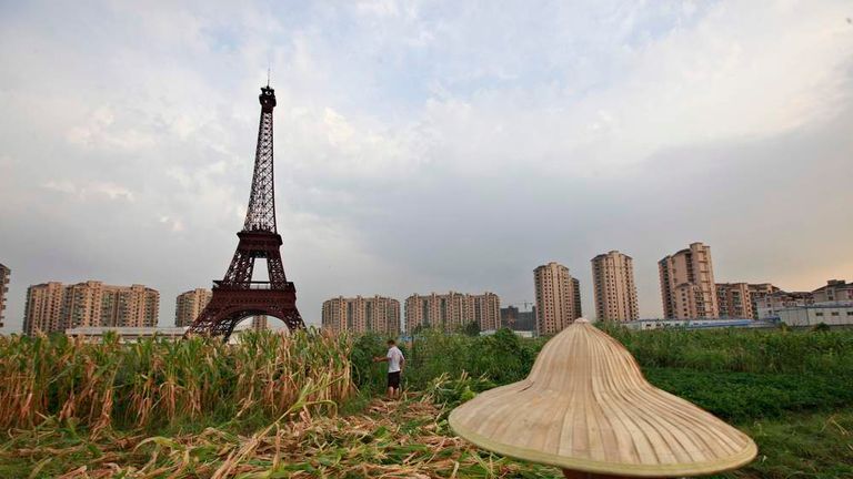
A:
[[[274,418],[300,400],[304,410],[333,412],[354,389],[349,356],[345,337],[314,332],[245,334],[235,345],[0,337],[0,428],[54,419],[98,437],[113,426]]]

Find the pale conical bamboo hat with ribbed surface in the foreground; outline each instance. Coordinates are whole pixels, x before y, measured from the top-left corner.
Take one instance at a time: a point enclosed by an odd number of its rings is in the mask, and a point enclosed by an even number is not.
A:
[[[757,451],[743,432],[650,385],[628,349],[586,319],[548,342],[526,379],[455,408],[450,426],[483,449],[601,475],[708,475]]]

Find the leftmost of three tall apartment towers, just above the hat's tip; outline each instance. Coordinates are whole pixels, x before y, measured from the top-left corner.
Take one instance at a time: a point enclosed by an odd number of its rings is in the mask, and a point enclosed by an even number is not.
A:
[[[536,291],[536,332],[560,333],[581,317],[581,285],[569,268],[551,262],[533,269]]]

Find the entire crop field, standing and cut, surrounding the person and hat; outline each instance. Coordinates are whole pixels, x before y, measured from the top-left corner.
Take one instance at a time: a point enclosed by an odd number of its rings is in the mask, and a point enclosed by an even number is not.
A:
[[[656,386],[750,434],[729,477],[853,477],[853,330],[604,326]],[[407,398],[379,399],[384,339],[301,333],[121,345],[0,338],[0,477],[560,477],[479,451],[445,417],[523,378],[542,339],[424,332]]]

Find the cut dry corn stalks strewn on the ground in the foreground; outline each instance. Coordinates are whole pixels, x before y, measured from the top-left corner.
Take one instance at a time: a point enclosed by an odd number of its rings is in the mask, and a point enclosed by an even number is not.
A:
[[[69,439],[57,436],[56,425],[44,424],[19,431],[14,444],[22,447],[7,445],[0,460],[31,461],[31,477],[68,463],[58,468],[63,479],[560,477],[556,469],[498,458],[453,437],[446,410],[429,397],[374,399],[341,417],[311,415],[304,406],[297,401],[281,420],[250,435],[215,428],[173,437],[101,435],[69,447],[59,445]]]

